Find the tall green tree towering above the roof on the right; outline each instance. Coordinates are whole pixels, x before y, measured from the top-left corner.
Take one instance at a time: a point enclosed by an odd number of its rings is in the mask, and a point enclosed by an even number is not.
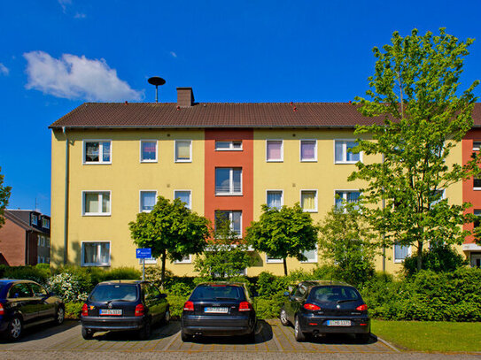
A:
[[[462,243],[462,224],[472,221],[463,214],[468,204],[448,204],[442,196],[446,188],[479,172],[478,158],[466,165],[449,161],[473,124],[473,89],[479,81],[462,93],[459,89],[472,42],[462,42],[444,28],[436,36],[395,32],[392,44],[373,49],[370,100],[356,97],[361,114],[378,122],[356,127],[355,134],[372,134],[374,141],[359,140],[353,152],[382,156],[383,161],[358,163],[349,180],[368,181],[361,191],[371,225],[379,232],[385,229],[385,245],[414,246],[418,270],[428,241]]]

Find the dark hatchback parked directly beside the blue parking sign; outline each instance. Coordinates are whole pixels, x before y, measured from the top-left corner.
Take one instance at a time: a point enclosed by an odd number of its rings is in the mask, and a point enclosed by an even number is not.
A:
[[[81,335],[91,339],[96,332],[139,331],[151,336],[151,326],[170,319],[167,295],[151,282],[113,280],[97,284],[81,308]]]

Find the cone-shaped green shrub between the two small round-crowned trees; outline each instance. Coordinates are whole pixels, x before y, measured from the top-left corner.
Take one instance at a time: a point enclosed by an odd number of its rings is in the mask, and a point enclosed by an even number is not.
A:
[[[201,276],[232,278],[252,266],[248,247],[231,228],[229,218],[216,218],[211,232],[203,257],[196,257],[194,262],[196,272]]]

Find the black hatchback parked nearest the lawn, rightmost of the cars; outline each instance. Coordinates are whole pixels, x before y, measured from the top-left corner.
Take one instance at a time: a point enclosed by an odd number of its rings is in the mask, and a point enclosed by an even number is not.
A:
[[[355,287],[336,281],[303,281],[284,295],[288,297],[281,323],[294,325],[297,341],[326,333],[354,333],[359,340],[369,341],[368,306]]]

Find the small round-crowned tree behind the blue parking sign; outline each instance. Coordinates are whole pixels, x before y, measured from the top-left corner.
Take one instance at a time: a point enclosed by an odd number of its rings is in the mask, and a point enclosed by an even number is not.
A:
[[[132,239],[140,248],[151,248],[152,257],[162,261],[160,283],[166,275],[166,260],[182,260],[190,254],[200,254],[206,247],[209,234],[208,220],[184,206],[159,196],[151,212],[137,214],[128,223]]]

